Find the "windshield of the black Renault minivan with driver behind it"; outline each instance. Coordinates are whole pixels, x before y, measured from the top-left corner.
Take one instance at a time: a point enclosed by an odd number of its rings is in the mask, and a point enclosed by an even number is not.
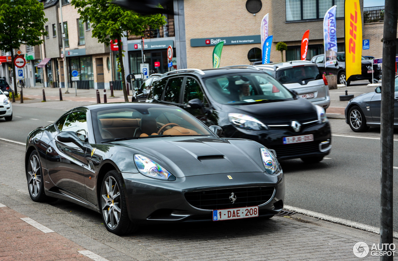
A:
[[[222,104],[293,100],[293,95],[267,73],[231,73],[205,79],[210,96]]]

